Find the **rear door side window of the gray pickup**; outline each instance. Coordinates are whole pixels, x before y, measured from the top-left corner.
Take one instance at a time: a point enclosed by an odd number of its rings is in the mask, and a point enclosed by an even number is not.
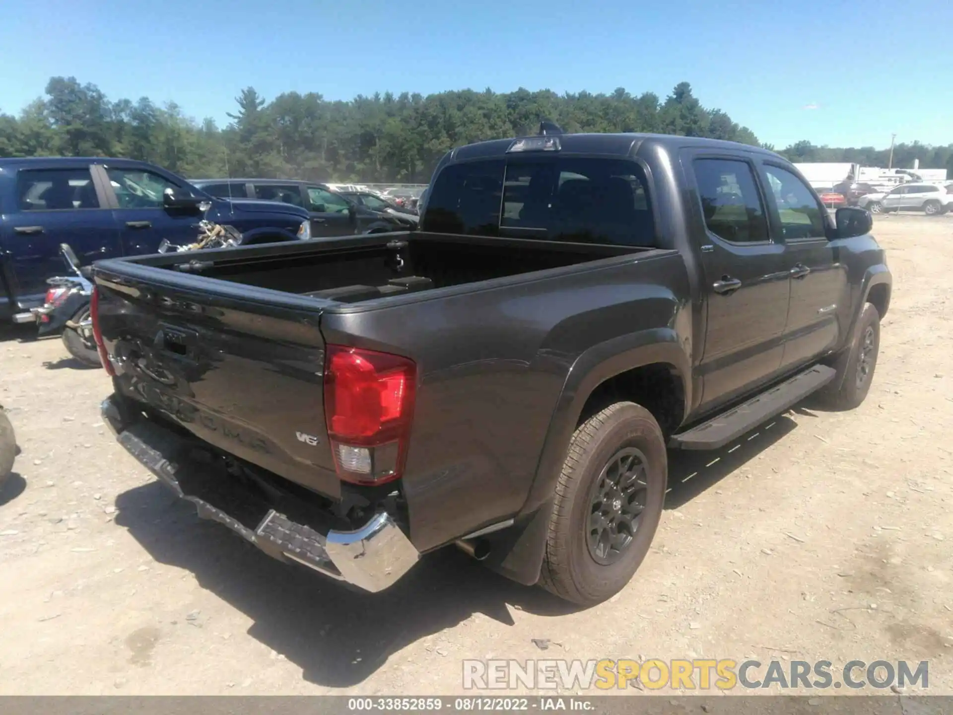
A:
[[[708,230],[726,241],[768,240],[768,222],[751,165],[734,159],[696,159],[701,213]]]

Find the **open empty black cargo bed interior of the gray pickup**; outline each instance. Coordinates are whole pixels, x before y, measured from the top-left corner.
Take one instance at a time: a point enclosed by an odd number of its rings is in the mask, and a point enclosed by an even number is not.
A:
[[[650,250],[424,233],[346,237],[131,262],[338,303],[463,286]]]

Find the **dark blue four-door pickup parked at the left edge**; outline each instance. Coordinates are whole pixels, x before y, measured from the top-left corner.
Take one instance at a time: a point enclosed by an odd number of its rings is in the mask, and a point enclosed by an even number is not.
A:
[[[311,238],[309,214],[277,201],[223,199],[132,159],[0,158],[0,319],[31,322],[47,278],[64,273],[60,244],[87,265],[191,243],[206,218],[242,243]]]

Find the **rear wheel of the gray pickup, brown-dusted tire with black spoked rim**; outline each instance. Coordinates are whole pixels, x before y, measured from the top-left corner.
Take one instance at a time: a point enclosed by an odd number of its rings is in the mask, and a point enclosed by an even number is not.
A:
[[[616,595],[648,553],[667,479],[665,438],[644,407],[616,402],[579,425],[559,475],[539,584],[581,605]],[[603,548],[610,540],[621,548]]]

